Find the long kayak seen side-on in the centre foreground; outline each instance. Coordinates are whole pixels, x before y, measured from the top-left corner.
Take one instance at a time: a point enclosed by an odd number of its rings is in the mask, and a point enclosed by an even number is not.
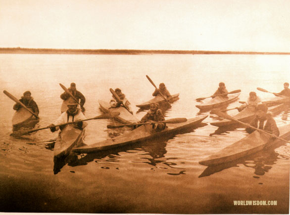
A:
[[[177,124],[166,124],[166,128],[162,131],[155,131],[152,129],[151,125],[143,125],[129,131],[123,135],[113,137],[111,139],[107,139],[101,142],[94,143],[92,145],[83,146],[79,148],[73,148],[73,152],[77,153],[93,153],[103,150],[110,150],[112,148],[125,146],[128,144],[133,144],[149,139],[159,138],[159,137],[168,137],[170,134],[180,133],[184,131],[184,129],[192,128],[199,123],[201,123],[205,117],[195,117],[192,119],[188,119],[184,123],[177,123]]]

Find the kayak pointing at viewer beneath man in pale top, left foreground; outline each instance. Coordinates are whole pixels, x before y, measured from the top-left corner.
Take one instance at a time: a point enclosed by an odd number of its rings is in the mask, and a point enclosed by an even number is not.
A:
[[[54,157],[61,158],[70,153],[73,147],[82,143],[84,129],[77,129],[74,125],[69,124],[58,133],[54,144]]]

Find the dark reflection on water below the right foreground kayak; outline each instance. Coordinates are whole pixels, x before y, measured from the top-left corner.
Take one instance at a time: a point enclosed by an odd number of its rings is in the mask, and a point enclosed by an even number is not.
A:
[[[276,164],[278,159],[289,159],[275,152],[274,149],[280,147],[281,145],[283,145],[283,143],[277,143],[276,145],[271,146],[267,150],[254,153],[233,162],[207,167],[198,177],[209,176],[216,172],[221,172],[225,169],[229,169],[232,167],[239,167],[238,164],[242,164],[244,167],[254,169],[255,175],[264,175],[266,172],[269,172],[272,169],[272,166]]]

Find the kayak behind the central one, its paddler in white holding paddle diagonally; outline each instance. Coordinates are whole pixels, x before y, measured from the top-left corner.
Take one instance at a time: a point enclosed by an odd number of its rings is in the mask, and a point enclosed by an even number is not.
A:
[[[120,112],[120,115],[115,117],[114,119],[120,123],[123,124],[132,124],[132,123],[138,123],[139,119],[135,117],[134,115],[130,114],[130,112],[120,106],[120,107],[111,107],[108,102],[98,100],[99,107],[104,113],[109,113],[109,112]]]

